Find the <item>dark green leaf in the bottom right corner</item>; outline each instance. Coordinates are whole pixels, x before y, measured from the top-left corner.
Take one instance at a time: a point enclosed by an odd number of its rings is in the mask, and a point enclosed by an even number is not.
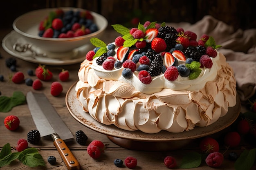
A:
[[[255,161],[256,148],[244,150],[235,162],[236,170],[250,170]]]

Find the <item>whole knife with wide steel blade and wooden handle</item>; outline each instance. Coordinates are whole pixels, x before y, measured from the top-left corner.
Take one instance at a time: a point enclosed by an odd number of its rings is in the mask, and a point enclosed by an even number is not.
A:
[[[27,105],[35,122],[40,136],[51,135],[53,144],[58,150],[68,170],[80,170],[80,164],[65,144],[65,141],[73,139],[74,136],[58,115],[52,104],[43,93],[32,93],[26,95]],[[65,140],[65,141],[64,141]]]

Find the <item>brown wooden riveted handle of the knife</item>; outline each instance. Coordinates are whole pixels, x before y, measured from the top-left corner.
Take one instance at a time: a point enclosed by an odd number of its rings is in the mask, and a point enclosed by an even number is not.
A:
[[[52,135],[52,139],[54,140],[53,144],[56,147],[56,149],[58,150],[59,154],[61,155],[64,163],[67,166],[67,169],[68,170],[80,170],[81,167],[80,167],[79,162],[76,160],[76,158],[74,157],[74,155],[72,154],[70,149],[67,147],[65,142],[62,139],[60,139],[58,137],[58,135],[56,137],[56,135],[55,134]]]

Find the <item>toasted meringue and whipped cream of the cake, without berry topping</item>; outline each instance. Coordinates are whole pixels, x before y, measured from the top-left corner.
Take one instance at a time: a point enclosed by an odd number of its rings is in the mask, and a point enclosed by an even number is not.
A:
[[[124,79],[123,68],[106,71],[95,59],[84,60],[76,97],[95,120],[124,130],[182,132],[209,126],[236,105],[232,68],[222,53],[212,61],[212,68],[202,68],[196,79],[179,75],[171,82],[162,74],[146,85],[138,79],[137,71],[131,79]]]

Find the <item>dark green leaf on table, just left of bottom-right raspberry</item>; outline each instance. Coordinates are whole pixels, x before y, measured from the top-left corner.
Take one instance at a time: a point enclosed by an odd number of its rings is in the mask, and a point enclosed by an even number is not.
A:
[[[202,162],[202,156],[197,152],[191,152],[182,158],[179,168],[197,168]]]

